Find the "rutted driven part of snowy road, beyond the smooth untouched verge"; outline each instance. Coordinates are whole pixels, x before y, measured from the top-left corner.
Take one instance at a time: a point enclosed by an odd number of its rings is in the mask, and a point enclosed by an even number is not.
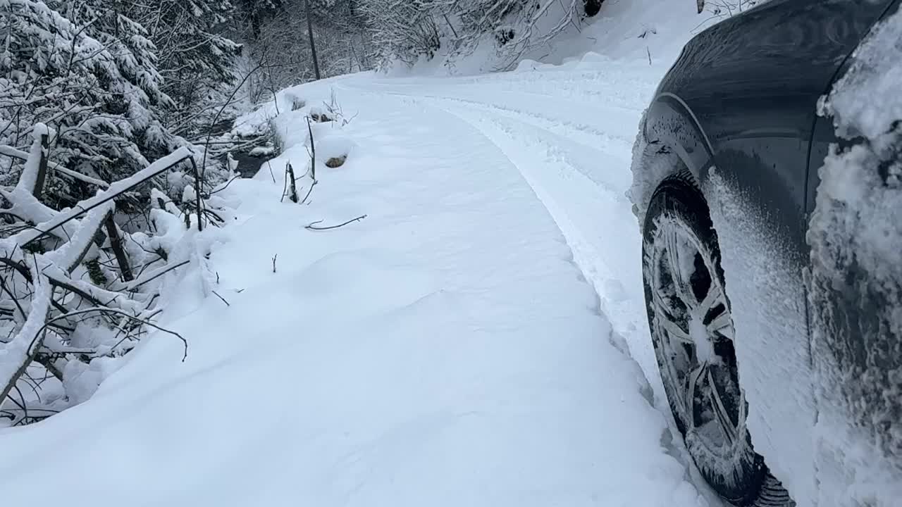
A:
[[[345,96],[399,97],[434,114],[454,115],[482,143],[502,152],[504,165],[516,168],[554,218],[599,296],[614,340],[626,340],[660,398],[642,294],[640,234],[626,191],[640,115],[662,69],[592,54],[561,67],[523,67],[475,78],[347,79],[335,88]]]

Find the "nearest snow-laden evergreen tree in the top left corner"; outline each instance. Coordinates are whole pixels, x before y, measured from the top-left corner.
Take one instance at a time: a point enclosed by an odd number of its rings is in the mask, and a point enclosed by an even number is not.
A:
[[[0,143],[49,124],[51,160],[102,180],[146,166],[178,143],[155,107],[169,106],[154,46],[138,23],[97,2],[4,0]],[[9,182],[11,175],[5,175]],[[67,184],[68,186],[68,184]],[[84,189],[64,189],[71,196]]]

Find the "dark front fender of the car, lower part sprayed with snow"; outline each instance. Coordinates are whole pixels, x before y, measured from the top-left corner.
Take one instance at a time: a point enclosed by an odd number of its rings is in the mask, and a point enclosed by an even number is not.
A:
[[[642,126],[645,142],[676,153],[708,198],[752,441],[801,505],[816,498],[802,280],[809,160],[822,149],[810,152],[815,129],[818,142],[833,139],[816,106],[890,4],[772,0],[718,23],[686,44]]]

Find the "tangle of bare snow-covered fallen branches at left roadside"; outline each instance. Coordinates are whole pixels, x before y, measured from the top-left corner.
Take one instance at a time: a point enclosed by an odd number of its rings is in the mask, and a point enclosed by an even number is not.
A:
[[[57,135],[51,128],[31,130],[23,162],[5,153],[21,165],[20,176],[0,186],[2,425],[44,419],[86,400],[149,329],[159,329],[152,319],[161,310],[160,284],[179,268],[199,270],[209,293],[215,275],[207,254],[216,238],[209,226],[230,212],[215,192],[201,195],[186,184],[181,207],[158,189],[148,192],[148,232],[128,234],[116,223],[117,200],[191,166],[194,153],[186,147],[112,184],[80,177],[93,197],[49,207],[42,202],[45,175],[74,171],[48,161],[46,140]],[[181,339],[187,352],[182,336],[163,333]]]

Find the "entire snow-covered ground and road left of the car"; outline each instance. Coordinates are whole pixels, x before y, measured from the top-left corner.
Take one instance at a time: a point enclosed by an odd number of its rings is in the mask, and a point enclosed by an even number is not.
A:
[[[186,363],[156,336],[91,401],[0,431],[4,502],[716,503],[670,442],[644,324],[624,192],[663,69],[642,63],[292,90],[356,114],[319,131],[354,144],[345,166],[280,203],[307,160],[307,111],[283,107],[278,181],[223,192],[229,305],[179,281]]]

